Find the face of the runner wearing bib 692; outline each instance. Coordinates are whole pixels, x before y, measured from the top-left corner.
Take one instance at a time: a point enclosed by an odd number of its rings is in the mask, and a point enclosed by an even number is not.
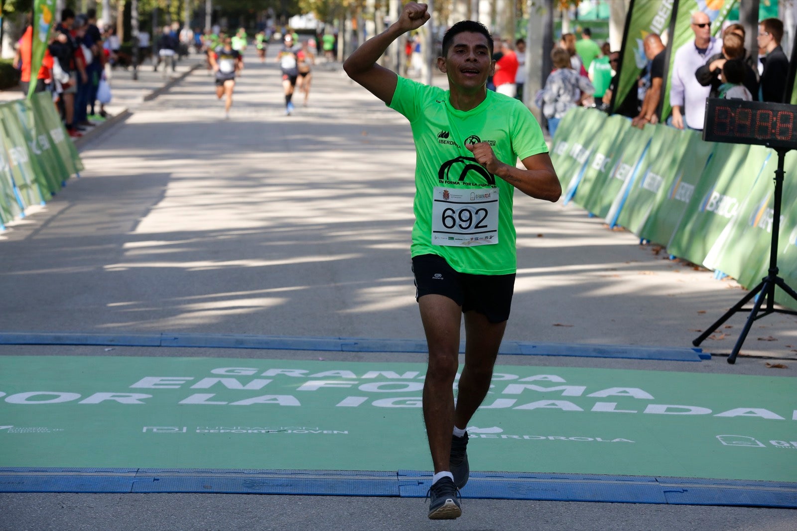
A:
[[[466,89],[487,84],[494,67],[487,37],[481,33],[458,33],[453,37],[446,57],[438,57],[438,68],[448,74],[449,84]]]

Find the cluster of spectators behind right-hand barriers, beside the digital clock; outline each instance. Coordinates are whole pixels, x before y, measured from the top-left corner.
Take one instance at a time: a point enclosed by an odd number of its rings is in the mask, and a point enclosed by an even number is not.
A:
[[[711,34],[709,16],[701,11],[692,14],[693,39],[673,50],[669,70],[669,107],[667,124],[678,129],[702,131],[705,100],[719,97],[780,103],[785,94],[789,61],[780,41],[783,22],[767,18],[758,25],[757,53],[744,48],[745,30],[740,24],[724,28],[719,37]],[[646,64],[636,79],[635,90],[614,101],[618,88],[620,53],[608,43],[598,45],[584,28],[581,38],[564,33],[552,50],[553,70],[535,103],[548,122],[551,135],[559,119],[571,107],[597,107],[626,115],[634,127],[658,123],[665,96],[667,49],[662,37],[651,33],[642,41]]]

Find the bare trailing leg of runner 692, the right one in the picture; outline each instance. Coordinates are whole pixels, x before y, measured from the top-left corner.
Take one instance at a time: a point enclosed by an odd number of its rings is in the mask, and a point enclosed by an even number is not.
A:
[[[464,430],[468,427],[473,413],[487,396],[504,330],[506,321],[493,323],[484,314],[465,313],[465,366],[459,377],[454,412],[454,426],[457,428]]]

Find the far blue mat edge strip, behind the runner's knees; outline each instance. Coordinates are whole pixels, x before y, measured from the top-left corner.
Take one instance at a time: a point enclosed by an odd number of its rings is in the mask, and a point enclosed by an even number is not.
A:
[[[77,345],[190,347],[214,349],[317,350],[332,352],[426,353],[426,342],[416,339],[300,338],[257,334],[80,334],[0,333],[0,345]],[[461,349],[464,352],[464,348]],[[504,341],[500,354],[515,356],[609,357],[659,361],[711,359],[697,347],[647,347],[588,345],[579,343],[534,343]]]

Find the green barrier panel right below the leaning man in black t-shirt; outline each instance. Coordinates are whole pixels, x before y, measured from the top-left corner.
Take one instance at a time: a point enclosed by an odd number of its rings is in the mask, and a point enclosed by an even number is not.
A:
[[[597,217],[607,217],[623,186],[634,178],[653,131],[654,127],[645,127],[642,131],[636,127],[626,129],[619,143],[622,146],[622,155],[611,172],[599,174],[595,179],[589,196],[584,201],[587,211]]]

